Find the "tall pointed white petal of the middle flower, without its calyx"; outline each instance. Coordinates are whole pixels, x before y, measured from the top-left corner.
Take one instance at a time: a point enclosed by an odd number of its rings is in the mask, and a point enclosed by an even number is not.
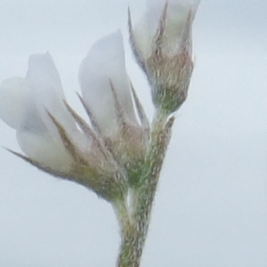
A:
[[[136,123],[120,30],[93,44],[81,64],[78,77],[85,103],[92,109],[104,135],[117,133],[115,101],[110,81],[127,118]]]

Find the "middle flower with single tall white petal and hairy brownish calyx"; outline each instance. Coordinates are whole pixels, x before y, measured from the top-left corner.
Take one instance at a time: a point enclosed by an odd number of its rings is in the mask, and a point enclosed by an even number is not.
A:
[[[135,116],[119,30],[93,44],[80,67],[79,82],[94,124],[117,160],[133,165],[143,158],[149,123],[136,96],[134,104],[139,109],[142,125]]]

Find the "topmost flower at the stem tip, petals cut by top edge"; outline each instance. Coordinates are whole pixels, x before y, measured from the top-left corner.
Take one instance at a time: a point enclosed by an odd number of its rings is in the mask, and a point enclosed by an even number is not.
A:
[[[129,13],[136,61],[151,85],[154,105],[170,114],[186,100],[193,69],[191,26],[200,0],[148,0],[135,27]]]

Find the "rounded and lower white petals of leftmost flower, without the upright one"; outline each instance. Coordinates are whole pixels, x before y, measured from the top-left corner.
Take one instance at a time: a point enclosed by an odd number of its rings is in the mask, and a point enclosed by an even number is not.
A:
[[[69,154],[55,142],[38,114],[32,88],[27,79],[12,77],[0,89],[0,117],[17,129],[20,149],[44,166],[57,170],[70,166]]]

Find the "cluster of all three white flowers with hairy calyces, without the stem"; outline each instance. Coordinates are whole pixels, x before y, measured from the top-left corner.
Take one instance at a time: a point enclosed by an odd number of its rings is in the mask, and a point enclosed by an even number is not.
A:
[[[191,25],[198,4],[199,0],[148,0],[135,26],[129,12],[135,59],[150,82],[157,113],[166,117],[187,96],[193,69]],[[49,53],[29,57],[25,78],[4,80],[0,117],[16,130],[26,156],[12,153],[109,201],[125,198],[132,174],[148,157],[151,137],[150,123],[125,70],[119,30],[93,44],[78,79],[88,121],[67,103]]]

